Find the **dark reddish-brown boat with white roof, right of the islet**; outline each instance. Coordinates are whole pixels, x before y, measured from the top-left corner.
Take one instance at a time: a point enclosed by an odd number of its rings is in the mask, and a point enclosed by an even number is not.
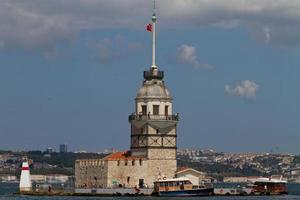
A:
[[[262,177],[251,180],[252,192],[256,195],[281,195],[288,194],[287,180],[282,176]]]

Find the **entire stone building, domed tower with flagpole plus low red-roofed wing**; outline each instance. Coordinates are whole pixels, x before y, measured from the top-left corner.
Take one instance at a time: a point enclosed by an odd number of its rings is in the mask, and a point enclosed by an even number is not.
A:
[[[177,170],[177,123],[164,72],[155,64],[156,15],[147,30],[152,32],[152,65],[144,71],[143,85],[129,116],[130,151],[115,152],[103,159],[76,160],[76,187],[153,187],[153,182],[173,178]]]

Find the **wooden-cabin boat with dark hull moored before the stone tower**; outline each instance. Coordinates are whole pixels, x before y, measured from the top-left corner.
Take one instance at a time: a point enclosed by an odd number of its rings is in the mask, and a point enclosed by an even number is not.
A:
[[[184,197],[184,196],[210,196],[213,188],[193,186],[188,178],[162,179],[154,182],[155,196]]]

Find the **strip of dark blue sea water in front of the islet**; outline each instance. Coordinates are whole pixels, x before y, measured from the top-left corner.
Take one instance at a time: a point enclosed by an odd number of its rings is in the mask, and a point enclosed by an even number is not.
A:
[[[15,195],[14,193],[18,190],[18,184],[8,184],[8,183],[0,183],[0,200],[179,200],[179,199],[189,199],[189,200],[300,200],[300,184],[289,184],[288,191],[289,195],[282,196],[228,196],[228,197],[219,197],[219,196],[211,196],[211,197],[39,197],[39,196],[23,196],[23,195]]]

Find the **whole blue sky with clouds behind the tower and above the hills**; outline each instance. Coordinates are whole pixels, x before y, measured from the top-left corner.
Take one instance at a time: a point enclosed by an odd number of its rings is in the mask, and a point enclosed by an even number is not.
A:
[[[0,149],[129,148],[151,3],[1,1]],[[178,147],[299,153],[300,3],[157,4]]]

